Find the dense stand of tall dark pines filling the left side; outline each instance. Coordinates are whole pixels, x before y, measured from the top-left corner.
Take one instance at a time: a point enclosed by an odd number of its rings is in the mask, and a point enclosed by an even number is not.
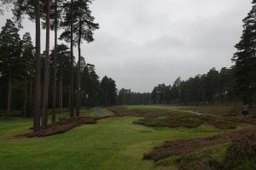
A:
[[[33,116],[33,130],[38,132],[47,127],[49,114],[55,122],[56,109],[61,112],[69,108],[70,117],[74,117],[79,116],[81,107],[115,104],[113,79],[100,80],[95,65],[87,63],[85,54],[81,54],[81,44],[93,42],[94,31],[100,28],[91,14],[91,3],[1,1],[1,13],[10,6],[14,14],[0,32],[0,108],[7,110],[7,117]],[[35,21],[35,46],[29,32],[22,37],[19,34],[25,17]],[[46,32],[43,53],[41,29]],[[49,31],[55,32],[54,37],[49,37]],[[54,40],[52,49],[50,38]],[[76,48],[78,56],[74,55]]]

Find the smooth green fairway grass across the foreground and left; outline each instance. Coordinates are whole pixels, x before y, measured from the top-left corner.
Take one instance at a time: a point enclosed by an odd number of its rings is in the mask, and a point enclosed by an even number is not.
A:
[[[0,120],[0,169],[163,169],[155,167],[153,161],[144,161],[143,153],[164,140],[227,132],[213,127],[154,128],[132,124],[137,119],[113,117],[34,139],[13,138],[32,127],[31,119]]]

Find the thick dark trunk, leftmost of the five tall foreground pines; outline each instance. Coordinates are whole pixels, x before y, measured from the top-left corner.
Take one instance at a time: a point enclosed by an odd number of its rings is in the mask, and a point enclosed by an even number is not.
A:
[[[36,59],[35,59],[35,94],[34,94],[34,119],[33,119],[33,132],[40,131],[40,111],[41,111],[41,23],[40,23],[40,4],[39,0],[35,0],[36,9]]]

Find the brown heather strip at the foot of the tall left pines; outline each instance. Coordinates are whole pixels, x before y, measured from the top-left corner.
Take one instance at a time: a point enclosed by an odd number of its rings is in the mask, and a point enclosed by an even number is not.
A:
[[[32,137],[45,137],[55,134],[65,133],[68,130],[79,127],[82,124],[96,124],[96,120],[90,117],[76,117],[73,119],[61,120],[49,125],[49,127],[38,133],[27,133],[28,138]]]

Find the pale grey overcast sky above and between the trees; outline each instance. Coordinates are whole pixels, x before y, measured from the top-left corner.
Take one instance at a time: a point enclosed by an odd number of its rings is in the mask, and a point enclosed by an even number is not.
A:
[[[251,1],[96,0],[91,9],[101,28],[82,54],[100,77],[139,92],[229,67]],[[0,17],[3,26],[11,15]],[[25,31],[34,35],[34,23],[25,20]],[[43,50],[44,31],[42,38]]]

